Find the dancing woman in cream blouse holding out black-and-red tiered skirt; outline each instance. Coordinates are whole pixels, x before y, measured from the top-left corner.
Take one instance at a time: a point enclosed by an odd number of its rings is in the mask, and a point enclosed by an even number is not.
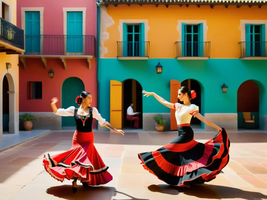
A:
[[[143,90],[144,96],[153,95],[163,105],[175,109],[178,137],[156,151],[140,153],[143,167],[169,185],[190,187],[213,180],[229,161],[230,141],[225,129],[205,119],[198,106],[191,104],[194,90],[180,87],[178,99],[184,104],[170,103],[152,92]],[[218,133],[205,144],[195,141],[190,127],[192,116],[217,129]]]

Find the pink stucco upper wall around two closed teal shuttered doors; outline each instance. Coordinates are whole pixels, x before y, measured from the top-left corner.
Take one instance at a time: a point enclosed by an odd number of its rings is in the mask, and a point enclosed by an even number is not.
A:
[[[17,26],[21,28],[21,7],[44,7],[44,35],[63,35],[63,7],[86,7],[86,35],[96,37],[95,0],[17,0]]]

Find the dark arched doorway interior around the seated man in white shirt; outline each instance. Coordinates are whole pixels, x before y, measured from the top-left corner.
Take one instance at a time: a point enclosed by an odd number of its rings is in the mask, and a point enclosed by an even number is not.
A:
[[[127,120],[127,108],[133,103],[133,112],[141,112],[139,117],[139,128],[143,128],[143,118],[142,118],[142,110],[143,110],[143,98],[142,98],[142,86],[135,79],[126,79],[122,82],[122,127],[131,128],[133,126],[133,121]]]

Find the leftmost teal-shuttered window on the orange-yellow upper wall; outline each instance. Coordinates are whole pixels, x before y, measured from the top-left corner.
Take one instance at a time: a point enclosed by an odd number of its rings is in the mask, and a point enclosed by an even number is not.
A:
[[[123,23],[123,56],[144,57],[144,23]]]

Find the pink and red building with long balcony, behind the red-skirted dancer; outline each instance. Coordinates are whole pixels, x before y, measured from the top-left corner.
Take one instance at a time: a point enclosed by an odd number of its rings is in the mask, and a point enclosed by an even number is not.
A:
[[[97,105],[96,20],[94,1],[18,0],[17,23],[25,31],[19,112],[37,118],[33,129],[75,126],[72,117],[52,112],[53,97],[58,107],[77,107],[75,98],[85,90],[93,95],[92,106]]]

